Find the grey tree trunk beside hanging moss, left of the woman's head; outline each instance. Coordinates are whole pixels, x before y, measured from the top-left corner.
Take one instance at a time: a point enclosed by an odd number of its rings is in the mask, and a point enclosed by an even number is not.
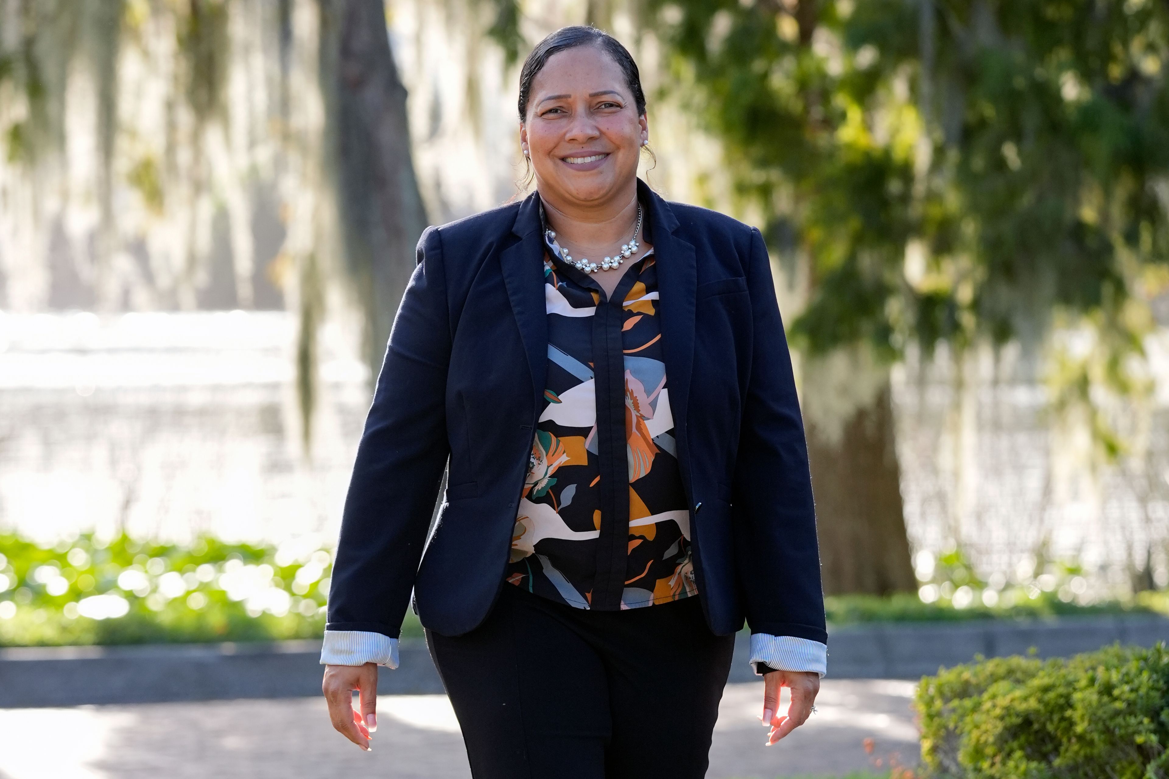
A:
[[[326,143],[336,153],[345,267],[366,315],[364,351],[376,375],[427,216],[382,0],[320,4]]]

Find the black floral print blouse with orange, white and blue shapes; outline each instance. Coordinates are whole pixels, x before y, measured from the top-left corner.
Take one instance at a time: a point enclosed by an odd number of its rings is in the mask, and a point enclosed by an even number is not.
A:
[[[544,235],[548,367],[506,579],[602,611],[697,594],[653,250],[608,297]]]

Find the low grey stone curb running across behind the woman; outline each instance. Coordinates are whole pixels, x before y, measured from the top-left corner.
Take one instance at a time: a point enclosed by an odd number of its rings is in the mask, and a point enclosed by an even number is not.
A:
[[[1051,621],[902,622],[829,629],[831,678],[918,678],[940,667],[1026,654],[1063,657],[1111,643],[1169,642],[1169,619],[1092,616]],[[750,641],[735,639],[731,682],[752,682]],[[400,670],[378,675],[381,695],[438,694],[421,639],[399,647]],[[320,695],[320,641],[29,647],[0,649],[0,708],[162,703]]]

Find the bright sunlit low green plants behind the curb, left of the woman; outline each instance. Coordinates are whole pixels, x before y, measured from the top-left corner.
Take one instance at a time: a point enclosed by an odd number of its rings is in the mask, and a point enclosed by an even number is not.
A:
[[[153,544],[85,533],[44,547],[0,535],[0,646],[320,637],[328,550]],[[414,614],[402,634],[421,636]]]

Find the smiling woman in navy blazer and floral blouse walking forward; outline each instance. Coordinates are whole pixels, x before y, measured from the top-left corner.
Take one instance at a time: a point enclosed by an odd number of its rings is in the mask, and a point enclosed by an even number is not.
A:
[[[541,41],[519,115],[535,192],[419,242],[345,504],[324,691],[368,749],[413,587],[477,778],[701,777],[743,618],[768,744],[825,670],[767,250],[637,179],[645,98],[609,35]]]

